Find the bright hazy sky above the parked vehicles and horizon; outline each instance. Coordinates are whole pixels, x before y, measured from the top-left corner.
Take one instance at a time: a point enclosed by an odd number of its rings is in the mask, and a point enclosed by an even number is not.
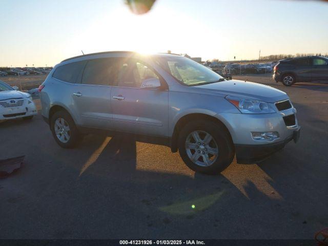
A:
[[[1,0],[0,67],[54,66],[101,51],[187,53],[202,60],[327,53],[328,2],[157,0],[135,15],[124,0]]]

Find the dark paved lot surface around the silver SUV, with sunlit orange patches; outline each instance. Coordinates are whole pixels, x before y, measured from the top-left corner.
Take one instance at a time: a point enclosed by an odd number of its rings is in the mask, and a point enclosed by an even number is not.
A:
[[[0,123],[0,158],[26,155],[0,179],[0,238],[313,238],[328,227],[328,84],[234,78],[288,93],[302,131],[271,158],[218,176],[128,136],[89,135],[67,150],[40,115]]]

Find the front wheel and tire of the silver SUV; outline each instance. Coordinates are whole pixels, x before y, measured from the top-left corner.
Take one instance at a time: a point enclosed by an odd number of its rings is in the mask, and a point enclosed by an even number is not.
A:
[[[200,145],[195,141],[195,132],[200,137]],[[207,134],[212,137],[209,144],[204,143],[206,142]],[[205,145],[202,146],[202,144]],[[190,145],[192,147],[188,148]],[[235,156],[235,150],[229,132],[220,124],[203,119],[189,122],[182,128],[178,137],[178,149],[182,160],[190,169],[195,172],[211,175],[219,174],[226,169]],[[210,151],[214,153],[215,149],[217,150],[216,155],[209,153]],[[201,156],[195,161],[197,155]],[[203,156],[209,158],[206,160]],[[192,157],[194,157],[194,161],[191,160]]]

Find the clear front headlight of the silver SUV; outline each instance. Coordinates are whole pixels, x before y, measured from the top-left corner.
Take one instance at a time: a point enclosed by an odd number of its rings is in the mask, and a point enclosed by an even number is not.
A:
[[[234,96],[226,96],[225,98],[243,114],[271,114],[276,112],[270,104],[264,101]]]

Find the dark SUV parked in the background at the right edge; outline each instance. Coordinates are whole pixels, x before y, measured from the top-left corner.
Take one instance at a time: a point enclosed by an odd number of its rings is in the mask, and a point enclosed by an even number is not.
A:
[[[273,78],[285,86],[297,81],[328,80],[328,58],[306,56],[280,60],[274,67]]]

